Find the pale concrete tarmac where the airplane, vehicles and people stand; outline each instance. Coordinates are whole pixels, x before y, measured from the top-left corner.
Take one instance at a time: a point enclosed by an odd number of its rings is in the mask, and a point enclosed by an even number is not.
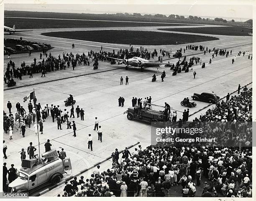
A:
[[[184,27],[184,26],[182,26]],[[195,27],[195,26],[193,26]],[[146,31],[159,31],[160,27],[143,27]],[[162,27],[161,27],[162,28]],[[169,28],[164,26],[164,28]],[[175,28],[172,26],[170,28]],[[141,30],[141,27],[126,27],[126,28],[77,28],[69,29],[74,30]],[[109,43],[97,43],[90,41],[79,41],[72,39],[54,38],[41,36],[42,32],[49,31],[67,31],[66,29],[45,29],[45,30],[33,30],[26,33],[15,33],[11,36],[5,35],[6,38],[20,38],[25,40],[34,40],[50,43],[54,46],[51,52],[54,56],[62,55],[63,52],[87,53],[87,51],[99,51],[100,46],[103,46],[103,50],[112,51],[113,49],[128,48],[129,45],[125,44],[109,44]],[[159,31],[168,32],[168,31]],[[186,33],[189,34],[189,33]],[[200,34],[197,34],[200,35]],[[207,35],[207,34],[205,34]],[[66,69],[65,71],[54,71],[46,74],[46,77],[41,78],[41,74],[33,74],[33,79],[29,79],[29,76],[23,76],[23,79],[17,82],[17,87],[14,89],[8,89],[4,91],[4,110],[8,111],[6,104],[8,100],[13,104],[12,111],[15,111],[16,102],[20,104],[28,111],[27,102],[23,103],[23,97],[28,95],[35,89],[38,102],[42,107],[46,104],[59,105],[61,109],[71,107],[64,106],[64,100],[73,94],[74,99],[77,101],[74,107],[79,105],[80,108],[85,110],[84,121],[75,117],[74,121],[77,125],[77,137],[73,137],[72,130],[67,130],[67,125],[62,125],[63,130],[57,130],[57,123],[52,122],[51,117],[48,117],[44,123],[44,134],[40,135],[41,153],[44,152],[44,143],[47,139],[51,140],[51,144],[57,149],[64,148],[67,152],[67,156],[72,160],[73,174],[79,172],[88,166],[101,161],[118,148],[123,149],[126,146],[132,145],[135,142],[141,142],[142,148],[146,148],[151,143],[151,126],[149,124],[129,121],[126,115],[123,114],[127,107],[131,106],[132,97],[144,97],[151,96],[154,104],[164,105],[164,102],[168,102],[171,107],[179,111],[187,109],[180,105],[180,101],[184,97],[191,97],[194,92],[215,92],[220,97],[224,97],[228,92],[236,91],[238,84],[244,86],[252,81],[252,60],[249,60],[246,56],[238,56],[235,63],[232,65],[233,56],[237,55],[238,51],[252,52],[252,37],[250,36],[215,36],[220,38],[218,41],[206,41],[202,43],[193,43],[194,45],[203,45],[212,48],[227,48],[227,51],[232,50],[232,56],[217,56],[212,59],[212,64],[208,64],[209,59],[212,58],[212,53],[206,53],[203,55],[200,51],[188,50],[185,55],[195,55],[205,62],[205,69],[202,69],[199,65],[192,66],[193,70],[197,71],[196,78],[193,78],[192,71],[189,73],[178,74],[172,76],[172,71],[169,68],[160,68],[160,74],[163,70],[166,71],[166,78],[164,82],[161,82],[160,76],[157,76],[156,82],[151,82],[151,77],[156,73],[156,68],[145,69],[141,72],[140,69],[131,67],[125,70],[124,65],[110,65],[109,63],[100,62],[99,69],[96,70],[97,74],[90,74],[96,72],[92,69],[92,66],[77,66],[73,71],[72,69]],[[71,44],[75,44],[75,48],[71,48]],[[180,47],[182,49],[186,44],[182,45],[162,45],[162,46],[144,46],[149,51],[154,48],[159,52],[160,48],[176,51]],[[135,45],[134,48],[139,47]],[[48,53],[49,53],[48,52]],[[199,53],[199,54],[198,54]],[[190,56],[187,56],[189,59]],[[39,59],[39,53],[32,53],[31,57],[28,57],[27,53],[11,55],[12,61],[16,66],[20,66],[20,63],[25,61],[26,64],[33,62],[33,58]],[[45,58],[43,56],[43,58]],[[164,59],[167,59],[166,57]],[[5,66],[8,63],[7,56],[4,57]],[[177,59],[167,60],[170,63],[177,62]],[[110,70],[110,71],[109,71]],[[88,75],[84,75],[88,74]],[[78,76],[79,75],[79,76]],[[129,77],[129,85],[120,85],[120,76]],[[64,79],[63,79],[64,78]],[[61,79],[54,81],[55,79]],[[46,83],[41,83],[50,81]],[[40,84],[41,83],[41,84]],[[28,84],[34,84],[28,86]],[[251,85],[250,85],[251,86]],[[249,86],[249,87],[250,87]],[[7,87],[4,87],[7,89]],[[123,96],[125,98],[124,107],[118,107],[118,97]],[[197,102],[197,107],[191,108],[190,114],[197,110],[207,106],[207,103]],[[210,106],[211,108],[212,106]],[[200,113],[193,115],[192,117],[200,116]],[[102,143],[97,140],[97,133],[93,130],[95,117],[100,120],[100,125],[103,129]],[[178,118],[181,118],[181,113],[178,112]],[[190,117],[190,120],[192,120]],[[73,119],[71,119],[73,120]],[[93,151],[87,148],[87,136],[91,133],[93,136]],[[11,163],[15,164],[15,167],[20,166],[20,154],[18,153],[21,148],[27,148],[29,142],[33,142],[33,145],[37,145],[37,136],[33,131],[33,125],[31,129],[26,129],[26,137],[21,137],[21,134],[15,130],[13,132],[13,140],[9,140],[9,134],[3,134],[4,140],[7,142],[8,159],[4,160],[9,167]],[[36,152],[38,153],[38,152]],[[103,168],[110,166],[110,162],[102,164]],[[105,169],[104,169],[105,170]],[[58,190],[59,189],[59,190]],[[54,191],[49,191],[45,196],[54,196],[59,192],[62,192],[63,188],[56,188]]]

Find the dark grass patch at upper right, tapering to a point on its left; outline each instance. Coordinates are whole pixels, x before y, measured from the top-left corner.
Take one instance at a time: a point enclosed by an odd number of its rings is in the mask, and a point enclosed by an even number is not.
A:
[[[216,35],[226,35],[226,36],[248,36],[248,33],[252,32],[251,29],[242,28],[239,26],[199,27],[199,28],[162,28],[159,30],[182,31],[182,32],[188,32],[188,33],[205,33],[205,34],[216,34]]]

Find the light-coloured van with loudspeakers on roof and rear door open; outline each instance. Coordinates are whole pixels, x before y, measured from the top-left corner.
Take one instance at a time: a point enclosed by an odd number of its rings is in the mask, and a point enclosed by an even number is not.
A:
[[[49,158],[42,157],[43,161],[39,162],[37,159],[24,160],[22,168],[18,171],[18,178],[16,178],[8,186],[8,191],[11,193],[28,192],[46,182],[50,182],[52,185],[59,183],[63,178],[65,170],[71,170],[71,163],[69,158],[65,158],[63,161],[58,158],[56,150],[50,150]],[[44,153],[42,156],[45,156]],[[26,166],[26,168],[25,168]]]

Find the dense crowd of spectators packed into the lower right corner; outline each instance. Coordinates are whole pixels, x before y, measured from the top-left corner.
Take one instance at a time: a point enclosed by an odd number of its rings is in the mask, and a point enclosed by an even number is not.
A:
[[[125,149],[121,160],[113,153],[112,168],[100,172],[98,167],[85,181],[66,183],[62,196],[252,197],[251,107],[252,88],[244,87],[184,125],[203,127],[201,137],[217,137],[217,142],[158,142],[144,150],[139,145],[133,153]],[[232,146],[223,146],[228,141]],[[196,193],[199,186],[203,190]]]

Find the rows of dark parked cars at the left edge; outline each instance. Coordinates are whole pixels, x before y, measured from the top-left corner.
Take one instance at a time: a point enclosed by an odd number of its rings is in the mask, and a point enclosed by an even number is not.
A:
[[[10,53],[16,53],[16,51],[28,51],[28,50],[48,50],[51,45],[47,43],[40,43],[34,41],[20,40],[15,38],[6,38],[8,43],[16,43],[15,50],[13,48],[7,48],[4,46],[4,50]]]

